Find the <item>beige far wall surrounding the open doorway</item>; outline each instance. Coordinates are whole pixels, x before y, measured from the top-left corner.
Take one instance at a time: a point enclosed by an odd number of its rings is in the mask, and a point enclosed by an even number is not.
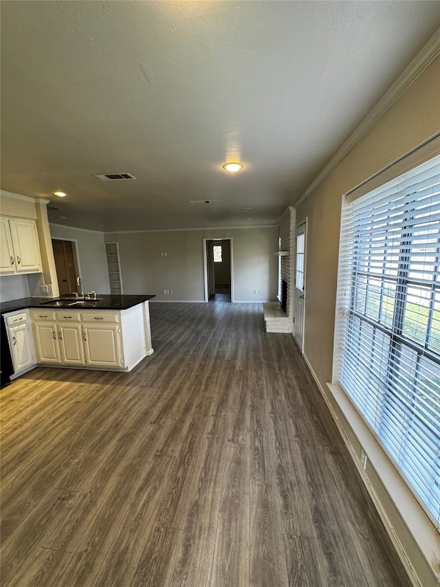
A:
[[[124,293],[155,294],[166,301],[204,300],[203,238],[219,237],[232,237],[234,300],[275,299],[276,226],[105,234],[106,242],[119,243]],[[164,289],[173,294],[164,295]]]

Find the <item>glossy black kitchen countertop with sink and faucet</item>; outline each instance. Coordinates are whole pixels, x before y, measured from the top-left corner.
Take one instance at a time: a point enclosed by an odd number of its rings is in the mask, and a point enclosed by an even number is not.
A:
[[[0,312],[6,314],[7,312],[14,312],[16,310],[24,310],[25,308],[58,308],[56,301],[71,298],[72,296],[61,296],[54,299],[47,297],[22,297],[21,299],[12,299],[10,301],[1,302]],[[98,298],[87,298],[87,306],[70,306],[69,310],[128,310],[137,306],[138,303],[148,301],[155,297],[155,295],[104,295],[97,294]],[[82,298],[78,298],[81,301]],[[52,303],[50,303],[52,302]],[[65,308],[65,306],[64,306]]]

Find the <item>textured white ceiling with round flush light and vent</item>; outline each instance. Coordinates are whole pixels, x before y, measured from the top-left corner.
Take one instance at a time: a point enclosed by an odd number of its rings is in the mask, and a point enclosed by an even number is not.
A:
[[[275,224],[439,24],[437,1],[3,1],[1,189],[98,231]]]

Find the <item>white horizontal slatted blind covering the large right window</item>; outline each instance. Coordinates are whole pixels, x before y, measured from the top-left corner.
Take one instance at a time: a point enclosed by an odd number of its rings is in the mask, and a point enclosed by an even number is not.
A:
[[[440,527],[440,156],[344,203],[339,383]]]

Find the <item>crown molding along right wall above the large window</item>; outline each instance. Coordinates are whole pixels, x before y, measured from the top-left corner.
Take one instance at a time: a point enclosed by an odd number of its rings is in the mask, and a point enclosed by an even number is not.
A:
[[[318,187],[318,185],[325,180],[327,175],[336,165],[353,149],[362,137],[375,125],[377,120],[384,116],[385,112],[400,98],[404,92],[412,85],[421,74],[430,66],[432,61],[440,55],[440,29],[434,33],[431,39],[426,43],[421,52],[411,61],[404,72],[397,78],[395,83],[388,89],[388,92],[382,96],[379,102],[371,110],[371,112],[364,118],[357,129],[344,142],[344,145],[333,155],[331,160],[327,163],[324,169],[319,173],[316,179],[309,185],[303,195],[295,202],[294,206],[297,208],[303,204],[309,195]]]

